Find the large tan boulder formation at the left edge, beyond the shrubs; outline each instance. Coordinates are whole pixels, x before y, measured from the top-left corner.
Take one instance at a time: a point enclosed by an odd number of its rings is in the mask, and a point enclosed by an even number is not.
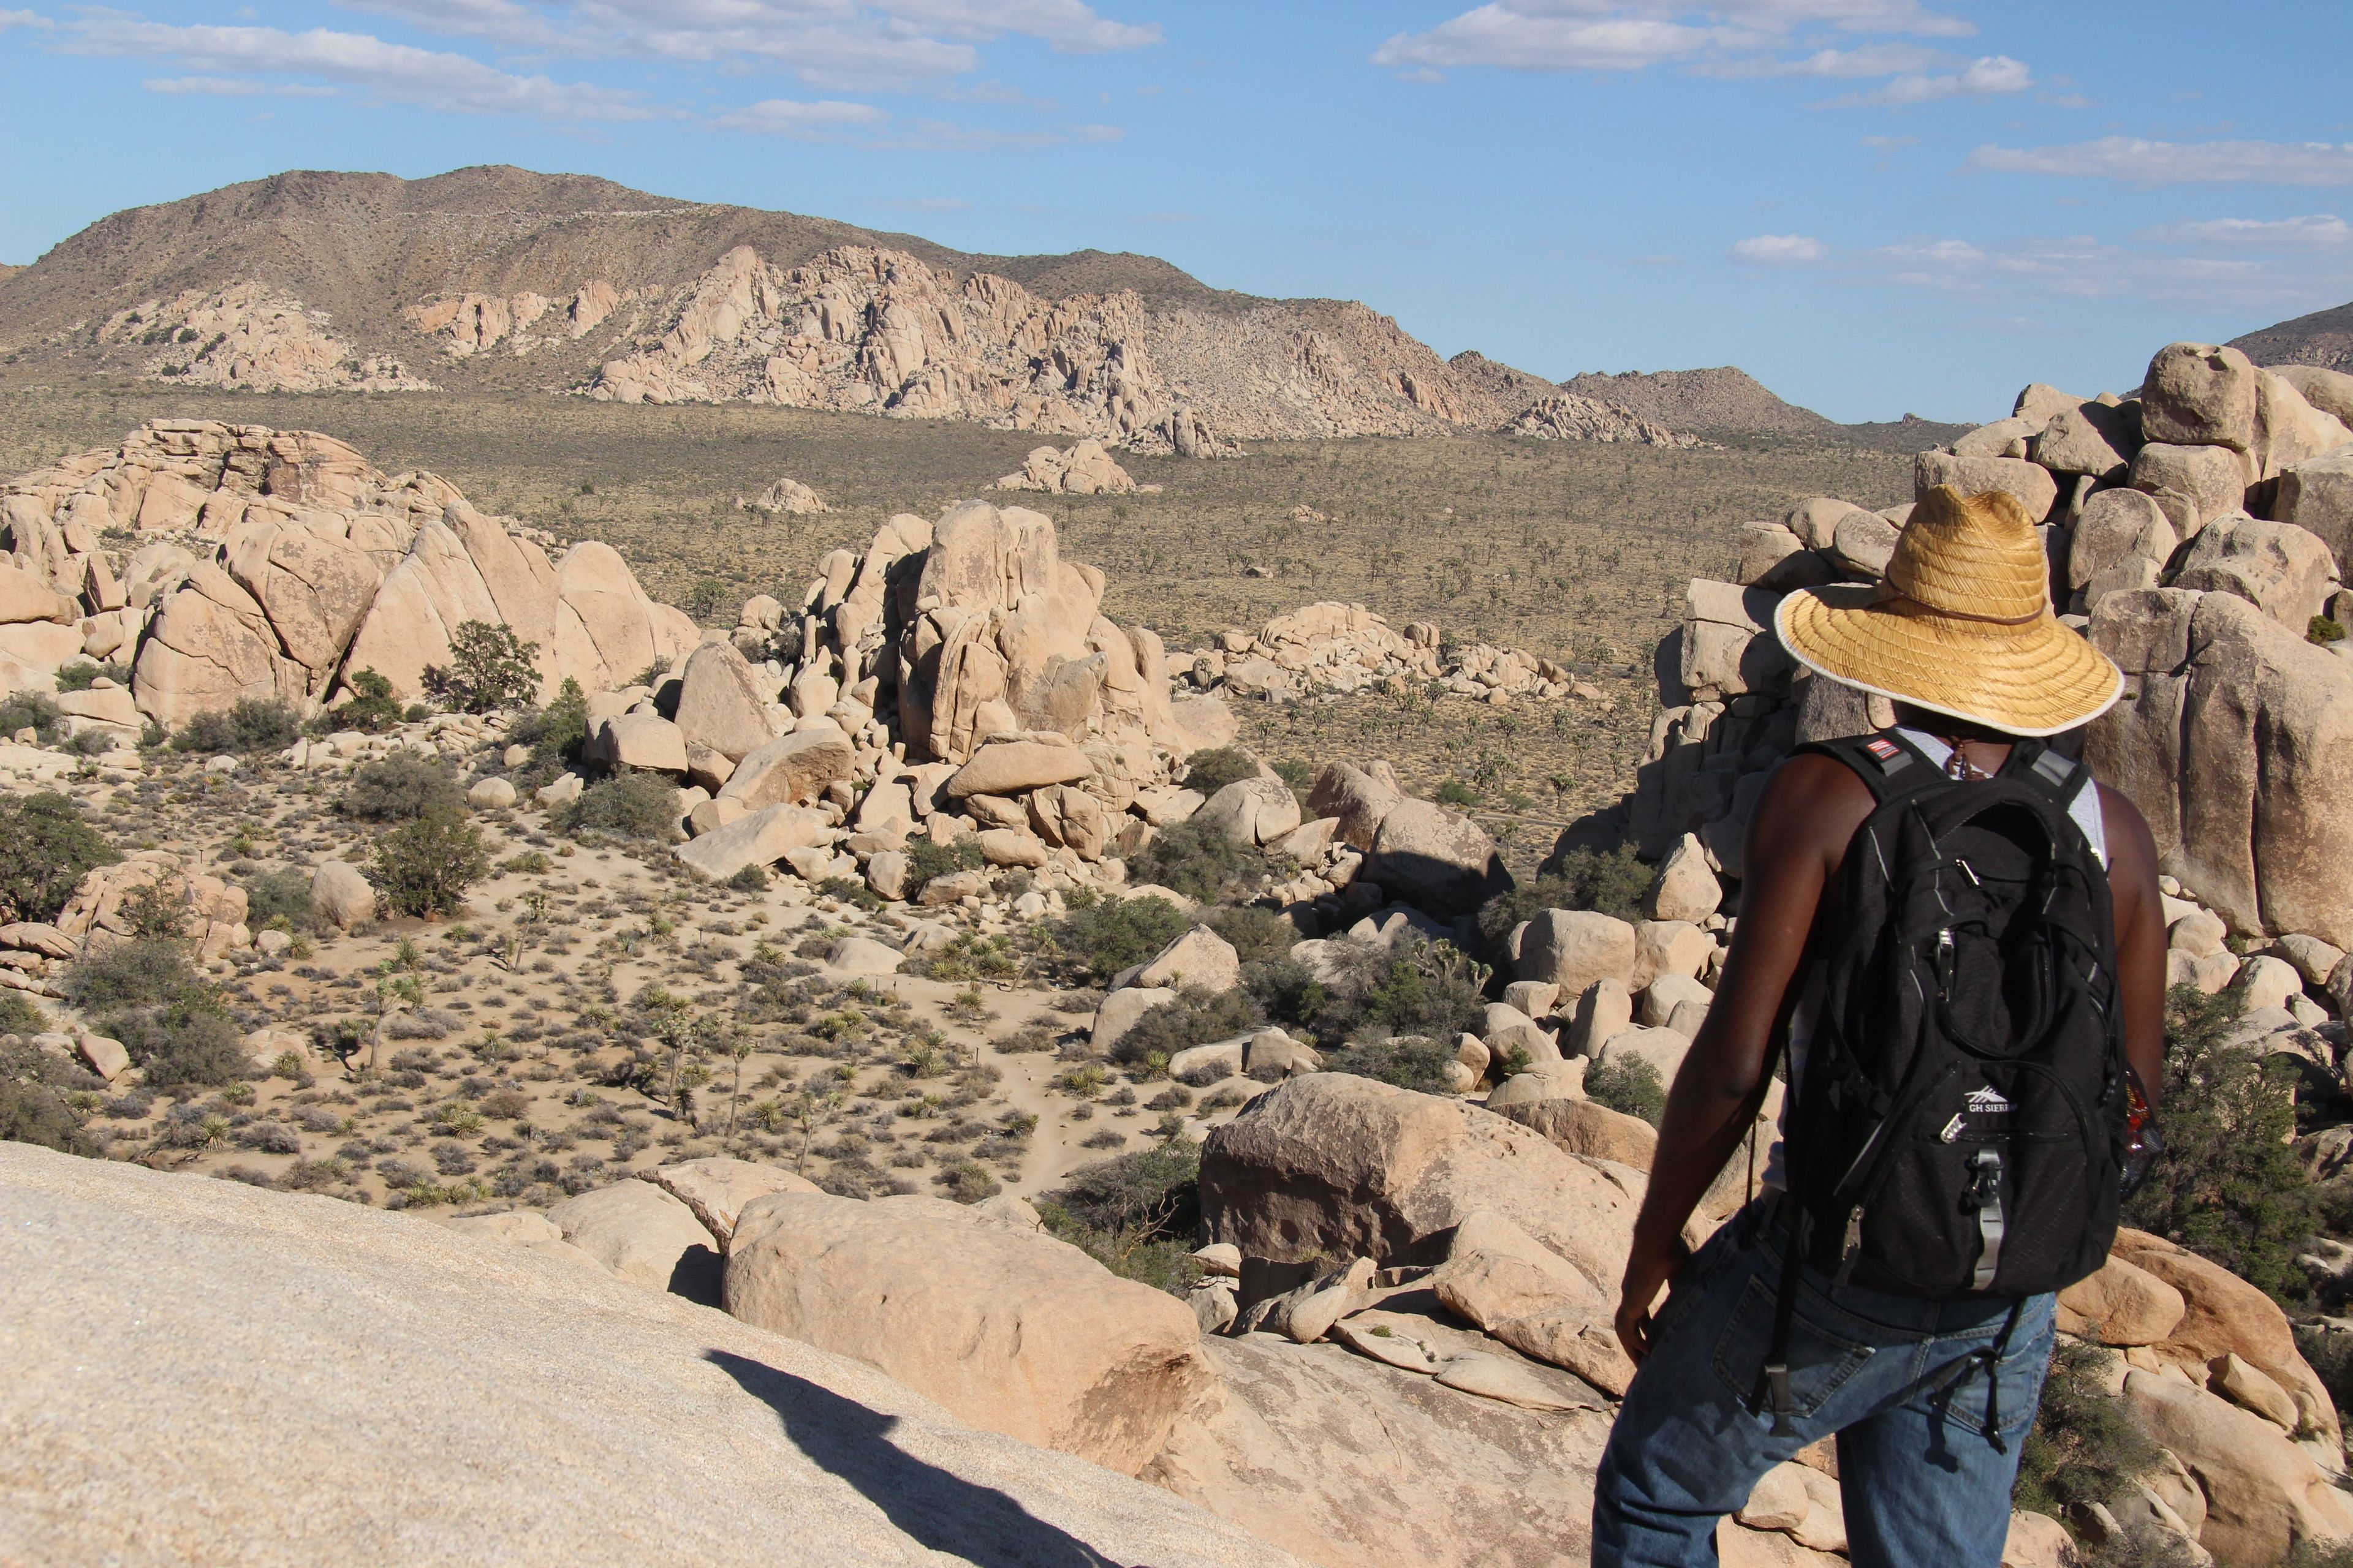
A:
[[[101,538],[122,534],[115,559]],[[609,691],[694,646],[609,545],[546,543],[327,435],[148,421],[0,489],[0,684],[127,663],[136,712],[172,726],[247,698],[332,705],[360,670],[414,698],[468,621],[532,642],[551,691]]]

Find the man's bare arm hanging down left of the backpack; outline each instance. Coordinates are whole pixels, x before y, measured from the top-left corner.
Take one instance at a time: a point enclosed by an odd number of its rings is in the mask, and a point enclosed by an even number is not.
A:
[[[1732,954],[1708,1020],[1666,1095],[1659,1157],[1619,1291],[1617,1331],[1635,1361],[1649,1352],[1652,1302],[1689,1255],[1682,1222],[1765,1103],[1767,1051],[1795,1001],[1814,914],[1847,839],[1866,816],[1871,790],[1831,757],[1784,762],[1758,797],[1741,851],[1741,919]]]

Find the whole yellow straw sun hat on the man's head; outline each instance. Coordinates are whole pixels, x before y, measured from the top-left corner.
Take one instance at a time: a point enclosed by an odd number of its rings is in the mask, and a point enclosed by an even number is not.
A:
[[[2042,541],[2002,491],[1939,484],[1880,583],[1793,592],[1774,630],[1817,675],[2012,736],[2087,724],[2125,689],[2106,654],[2059,625]]]

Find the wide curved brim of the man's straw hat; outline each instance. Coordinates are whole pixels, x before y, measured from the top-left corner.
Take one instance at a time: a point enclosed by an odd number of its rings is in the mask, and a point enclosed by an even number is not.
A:
[[[1774,630],[1817,675],[2009,736],[2089,724],[2125,693],[2125,672],[2057,616],[1991,625],[1838,583],[1784,597]]]

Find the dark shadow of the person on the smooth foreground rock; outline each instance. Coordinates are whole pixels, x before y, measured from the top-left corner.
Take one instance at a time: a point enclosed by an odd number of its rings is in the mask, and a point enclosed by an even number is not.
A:
[[[896,1415],[868,1410],[807,1378],[725,1349],[706,1349],[704,1361],[772,1408],[800,1453],[854,1486],[901,1533],[932,1552],[960,1556],[976,1568],[1120,1568],[1005,1493],[901,1453],[889,1441]]]

